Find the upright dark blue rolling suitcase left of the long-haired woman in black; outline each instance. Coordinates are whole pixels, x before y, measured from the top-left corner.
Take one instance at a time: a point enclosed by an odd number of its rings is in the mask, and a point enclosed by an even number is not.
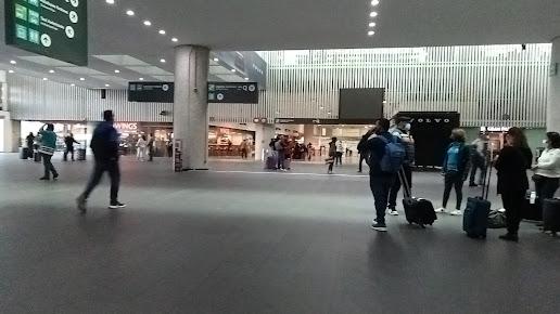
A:
[[[471,238],[486,238],[488,215],[492,204],[488,201],[489,185],[492,182],[492,167],[488,167],[487,181],[482,188],[482,197],[469,197],[462,218],[462,230]]]

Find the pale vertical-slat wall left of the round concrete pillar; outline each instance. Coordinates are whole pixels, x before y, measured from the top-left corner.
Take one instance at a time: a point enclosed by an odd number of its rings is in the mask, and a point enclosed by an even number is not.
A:
[[[112,109],[119,121],[171,122],[173,104],[130,103],[126,90],[88,90],[38,78],[10,75],[9,109],[17,120],[101,120]]]

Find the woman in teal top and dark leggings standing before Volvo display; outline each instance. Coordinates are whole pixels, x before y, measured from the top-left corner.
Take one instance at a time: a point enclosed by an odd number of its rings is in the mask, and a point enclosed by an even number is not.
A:
[[[447,147],[443,163],[442,174],[445,178],[443,204],[442,208],[437,209],[436,212],[446,211],[449,194],[451,193],[451,188],[455,187],[455,192],[457,193],[457,206],[455,211],[451,211],[450,214],[461,215],[462,185],[469,173],[470,149],[464,145],[464,130],[453,130],[451,140],[453,143]]]

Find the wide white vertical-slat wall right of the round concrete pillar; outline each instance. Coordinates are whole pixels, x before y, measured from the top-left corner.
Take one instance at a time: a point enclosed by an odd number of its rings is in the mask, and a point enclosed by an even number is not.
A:
[[[258,105],[211,105],[219,121],[336,118],[340,88],[386,88],[385,115],[457,110],[462,125],[544,127],[550,44],[262,52]],[[329,114],[330,113],[330,114]]]

